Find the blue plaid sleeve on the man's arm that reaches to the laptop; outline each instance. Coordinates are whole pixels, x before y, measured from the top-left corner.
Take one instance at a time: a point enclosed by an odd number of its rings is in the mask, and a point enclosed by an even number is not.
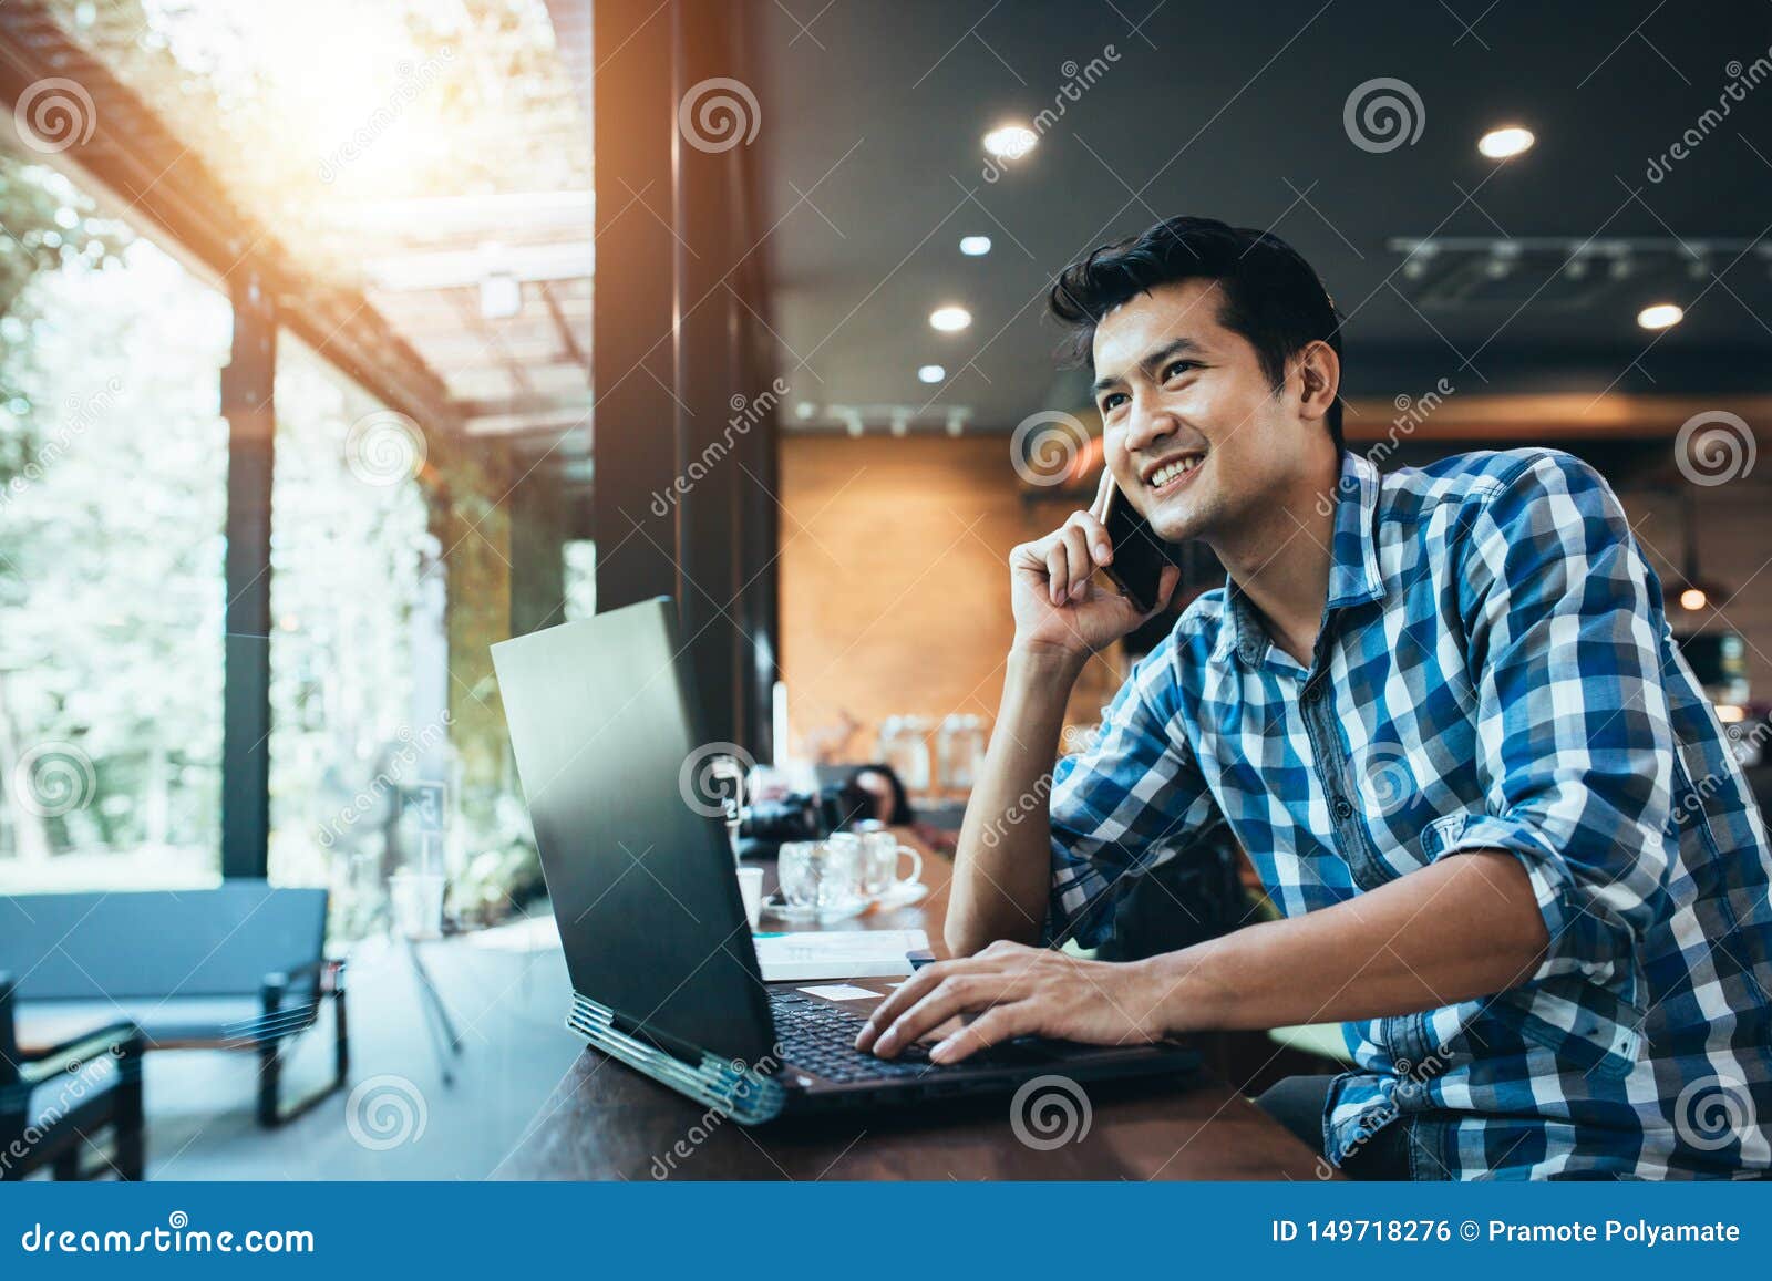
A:
[[[1512,852],[1550,937],[1533,982],[1602,1022],[1636,1022],[1643,939],[1675,858],[1660,586],[1618,498],[1566,454],[1488,496],[1462,560],[1487,813],[1441,858]],[[1589,1042],[1632,1044],[1586,1022]]]

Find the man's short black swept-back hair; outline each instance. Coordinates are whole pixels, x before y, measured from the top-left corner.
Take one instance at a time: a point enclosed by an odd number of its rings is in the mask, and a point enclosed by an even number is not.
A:
[[[1219,324],[1249,340],[1276,392],[1286,383],[1286,360],[1306,344],[1325,342],[1341,354],[1334,299],[1304,255],[1272,232],[1180,216],[1090,250],[1058,273],[1047,307],[1072,326],[1065,344],[1069,360],[1093,369],[1100,319],[1138,294],[1178,280],[1217,282],[1224,299]],[[1340,450],[1340,397],[1324,420]]]

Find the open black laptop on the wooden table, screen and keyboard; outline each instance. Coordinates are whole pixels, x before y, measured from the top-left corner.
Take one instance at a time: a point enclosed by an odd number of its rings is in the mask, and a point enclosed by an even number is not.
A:
[[[567,1026],[742,1123],[1198,1067],[1175,1045],[1021,1038],[964,1063],[856,1051],[875,999],[764,983],[727,829],[691,804],[707,755],[668,597],[493,647],[572,982]]]

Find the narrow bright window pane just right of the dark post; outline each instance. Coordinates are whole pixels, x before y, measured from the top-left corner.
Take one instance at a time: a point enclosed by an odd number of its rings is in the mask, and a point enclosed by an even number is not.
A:
[[[441,870],[454,788],[424,438],[285,330],[271,489],[271,850],[374,927],[386,877]]]

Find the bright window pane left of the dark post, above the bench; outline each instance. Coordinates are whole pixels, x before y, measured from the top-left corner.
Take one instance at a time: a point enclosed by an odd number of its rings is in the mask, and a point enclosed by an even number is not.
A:
[[[0,147],[0,891],[220,875],[232,312]]]

